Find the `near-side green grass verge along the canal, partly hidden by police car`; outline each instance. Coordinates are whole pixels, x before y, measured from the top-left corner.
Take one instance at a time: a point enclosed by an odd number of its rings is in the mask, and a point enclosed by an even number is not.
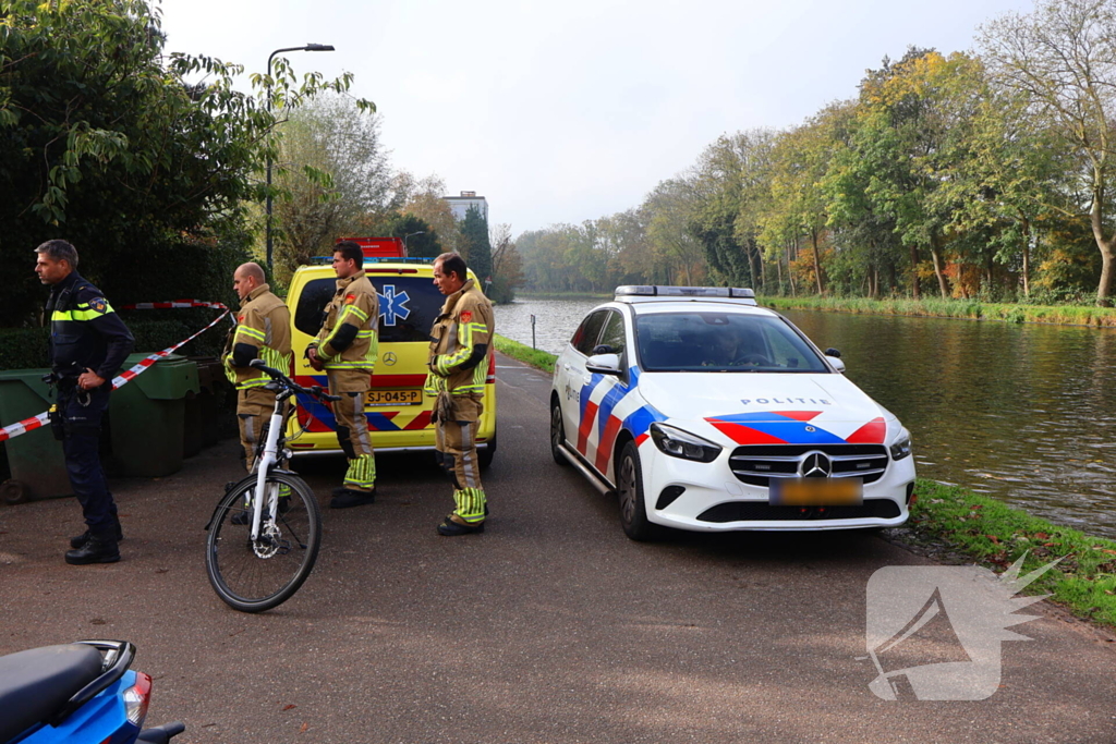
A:
[[[768,306],[770,307],[770,306]],[[496,348],[554,371],[556,357],[502,336]],[[1116,628],[1116,541],[1059,526],[1018,509],[925,479],[915,484],[911,519],[884,537],[946,563],[975,562],[997,572],[1024,557],[1020,576],[1058,564],[1024,593],[1049,593],[1077,617]]]

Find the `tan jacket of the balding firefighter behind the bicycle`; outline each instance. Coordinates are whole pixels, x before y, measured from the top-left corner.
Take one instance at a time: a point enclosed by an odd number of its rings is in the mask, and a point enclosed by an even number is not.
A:
[[[267,284],[257,287],[240,301],[237,328],[224,357],[238,390],[271,381],[267,374],[248,366],[256,358],[283,375],[290,374],[290,310]]]

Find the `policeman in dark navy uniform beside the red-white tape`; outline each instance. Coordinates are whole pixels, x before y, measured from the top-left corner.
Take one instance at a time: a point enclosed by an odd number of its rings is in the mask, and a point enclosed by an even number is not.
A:
[[[100,467],[100,419],[108,408],[110,380],[135,341],[100,290],[78,274],[73,245],[48,240],[35,252],[35,273],[50,286],[46,316],[57,380],[55,423],[60,424],[66,471],[86,523],[86,531],[70,540],[66,562],[113,563],[121,560],[117,543],[124,534]]]

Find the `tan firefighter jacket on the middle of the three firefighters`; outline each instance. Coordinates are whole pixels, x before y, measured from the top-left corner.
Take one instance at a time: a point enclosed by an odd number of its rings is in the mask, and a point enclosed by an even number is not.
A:
[[[364,271],[337,280],[337,291],[326,306],[325,322],[309,348],[318,349],[326,369],[352,369],[368,375],[376,365],[379,344],[379,296]]]

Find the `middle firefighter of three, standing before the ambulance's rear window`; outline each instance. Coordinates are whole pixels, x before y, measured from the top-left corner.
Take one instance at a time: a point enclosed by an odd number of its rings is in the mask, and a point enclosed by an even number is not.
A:
[[[348,509],[371,504],[376,497],[376,458],[364,402],[378,354],[379,296],[364,273],[364,252],[353,241],[335,247],[334,272],[337,291],[326,306],[321,330],[307,347],[306,357],[314,369],[325,369],[329,394],[341,397],[333,408],[337,442],[349,464],[329,506]]]

